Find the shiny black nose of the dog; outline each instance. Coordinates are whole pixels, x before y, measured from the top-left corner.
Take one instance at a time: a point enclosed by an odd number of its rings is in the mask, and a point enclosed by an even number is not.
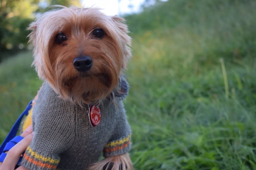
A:
[[[90,56],[77,57],[73,60],[73,65],[79,72],[85,72],[92,67],[93,59]]]

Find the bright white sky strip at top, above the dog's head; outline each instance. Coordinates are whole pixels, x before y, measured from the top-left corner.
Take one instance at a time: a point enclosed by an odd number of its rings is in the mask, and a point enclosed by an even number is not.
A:
[[[140,5],[144,1],[145,0],[120,0],[118,4],[118,0],[81,0],[81,3],[84,7],[93,6],[103,8],[103,13],[112,16],[140,12]],[[119,11],[118,5],[120,7]],[[132,8],[129,8],[129,5],[132,6]]]

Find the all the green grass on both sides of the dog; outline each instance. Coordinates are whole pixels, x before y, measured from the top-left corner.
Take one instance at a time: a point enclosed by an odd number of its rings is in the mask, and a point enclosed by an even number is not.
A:
[[[137,170],[256,169],[256,1],[170,0],[127,16],[125,100]],[[41,82],[0,64],[0,140]]]

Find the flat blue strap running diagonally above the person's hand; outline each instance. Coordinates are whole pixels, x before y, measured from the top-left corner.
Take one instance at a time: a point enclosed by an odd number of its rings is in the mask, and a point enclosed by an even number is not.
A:
[[[7,135],[7,137],[5,138],[4,142],[2,143],[2,145],[1,145],[1,147],[0,147],[0,153],[3,152],[5,145],[6,145],[9,141],[11,141],[11,140],[16,136],[16,134],[17,134],[17,132],[18,132],[18,130],[19,130],[20,122],[21,122],[23,116],[24,116],[24,115],[28,115],[28,111],[29,111],[29,110],[31,109],[31,107],[32,107],[32,105],[31,105],[32,101],[33,101],[33,100],[31,100],[31,101],[29,102],[29,104],[27,105],[26,109],[23,111],[23,113],[21,113],[21,115],[19,116],[19,118],[16,120],[16,122],[15,122],[14,125],[12,126],[11,131],[9,132],[9,134]],[[15,139],[13,140],[13,142],[16,142],[16,143],[17,143],[18,138],[19,138],[19,137],[15,138]]]

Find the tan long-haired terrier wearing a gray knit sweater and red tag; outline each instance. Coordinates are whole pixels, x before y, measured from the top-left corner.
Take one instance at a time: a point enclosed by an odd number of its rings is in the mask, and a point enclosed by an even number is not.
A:
[[[131,57],[125,20],[98,8],[54,6],[28,30],[43,80],[22,129],[34,137],[21,165],[40,170],[131,170],[122,100]],[[98,161],[101,153],[105,159]]]

